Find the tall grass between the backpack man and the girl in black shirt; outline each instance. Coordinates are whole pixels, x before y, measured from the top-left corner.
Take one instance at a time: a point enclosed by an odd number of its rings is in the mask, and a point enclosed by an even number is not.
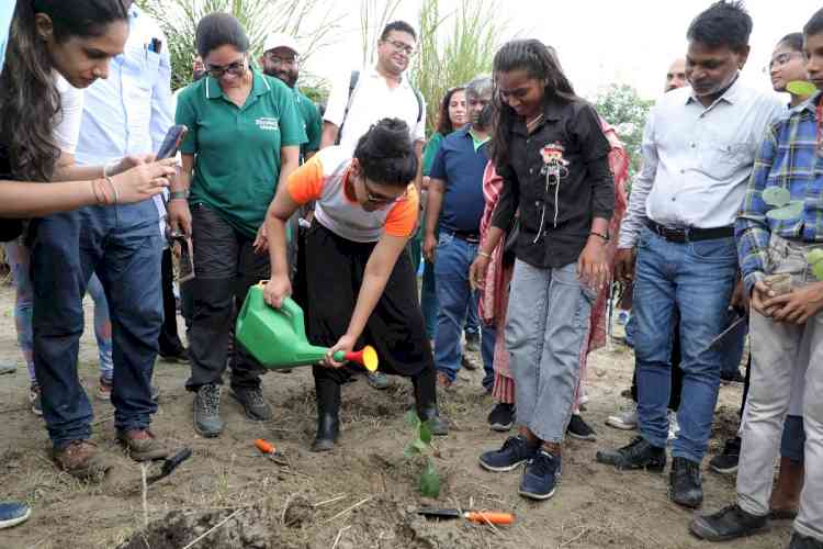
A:
[[[419,53],[412,68],[412,81],[426,98],[427,135],[437,127],[440,101],[449,88],[492,72],[508,25],[496,0],[461,0],[447,14],[440,8],[440,0],[422,0]]]

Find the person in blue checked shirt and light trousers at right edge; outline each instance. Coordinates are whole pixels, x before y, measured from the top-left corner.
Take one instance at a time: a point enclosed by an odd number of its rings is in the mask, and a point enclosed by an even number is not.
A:
[[[803,35],[807,70],[819,91],[766,132],[736,223],[743,280],[752,295],[752,379],[737,502],[698,517],[691,531],[719,541],[766,529],[792,380],[804,370],[805,483],[789,548],[823,549],[823,280],[809,261],[810,253],[823,250],[823,10]],[[766,195],[779,194],[778,189],[791,198],[779,213],[764,200],[782,202]],[[790,288],[778,290],[774,274],[788,274]]]

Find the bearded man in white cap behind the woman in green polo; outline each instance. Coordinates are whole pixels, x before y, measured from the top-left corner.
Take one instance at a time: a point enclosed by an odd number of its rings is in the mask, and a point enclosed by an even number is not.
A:
[[[320,149],[323,120],[317,105],[296,88],[300,77],[300,54],[297,43],[283,33],[272,33],[263,43],[263,55],[260,56],[263,72],[281,79],[294,90],[297,112],[303,117],[303,127],[308,142],[300,147],[301,164],[312,158]]]

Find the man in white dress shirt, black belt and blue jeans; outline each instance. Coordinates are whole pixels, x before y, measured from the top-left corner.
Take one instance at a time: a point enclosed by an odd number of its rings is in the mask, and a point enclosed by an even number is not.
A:
[[[734,222],[759,142],[782,113],[777,97],[739,80],[751,32],[752,18],[740,1],[715,2],[691,22],[690,87],[663,96],[649,115],[643,169],[618,246],[618,271],[634,270],[640,436],[598,452],[597,460],[618,469],[665,468],[676,307],[684,381],[669,497],[687,507],[702,502],[700,462],[721,365],[720,351],[708,347],[725,327],[737,278]]]

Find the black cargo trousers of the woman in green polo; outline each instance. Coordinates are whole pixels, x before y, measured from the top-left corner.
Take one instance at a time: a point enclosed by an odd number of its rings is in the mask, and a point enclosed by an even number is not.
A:
[[[185,388],[198,391],[206,383],[223,383],[227,366],[232,368],[232,386],[258,388],[263,368],[237,341],[228,357],[228,339],[234,337],[232,327],[249,288],[269,278],[269,255],[255,254],[255,238],[237,231],[210,206],[194,204],[191,214],[195,278],[187,282],[193,312],[191,378]]]

